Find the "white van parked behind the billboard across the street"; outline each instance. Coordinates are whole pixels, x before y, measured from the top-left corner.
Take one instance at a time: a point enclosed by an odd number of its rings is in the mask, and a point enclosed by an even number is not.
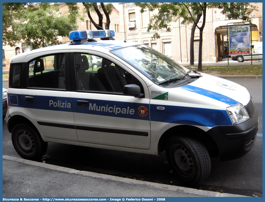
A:
[[[262,59],[262,42],[254,42],[251,46],[252,50],[252,59]],[[231,56],[233,60],[236,60],[238,62],[243,62],[244,60],[251,60],[251,54],[250,55],[234,55]]]

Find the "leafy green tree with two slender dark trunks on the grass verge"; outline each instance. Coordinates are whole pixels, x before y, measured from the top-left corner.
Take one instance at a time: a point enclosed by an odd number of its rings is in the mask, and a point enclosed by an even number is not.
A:
[[[182,24],[193,23],[191,41],[190,41],[190,64],[194,65],[194,32],[196,27],[200,30],[200,42],[199,42],[199,61],[198,71],[202,70],[202,33],[205,26],[206,10],[208,8],[219,8],[221,13],[226,14],[229,19],[242,19],[243,21],[250,21],[249,15],[257,10],[251,3],[135,3],[136,6],[141,8],[141,12],[144,8],[148,8],[150,11],[158,9],[158,14],[152,16],[148,25],[148,30],[162,30],[171,31],[166,21],[176,21],[182,18]],[[166,15],[166,20],[163,16]],[[199,27],[198,21],[201,16],[202,24]],[[159,34],[155,33],[153,38],[159,38]]]

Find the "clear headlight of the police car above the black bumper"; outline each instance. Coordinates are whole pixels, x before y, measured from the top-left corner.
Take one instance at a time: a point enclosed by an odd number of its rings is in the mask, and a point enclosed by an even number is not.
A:
[[[249,115],[242,104],[227,107],[226,111],[228,112],[233,124],[242,123],[249,119]]]

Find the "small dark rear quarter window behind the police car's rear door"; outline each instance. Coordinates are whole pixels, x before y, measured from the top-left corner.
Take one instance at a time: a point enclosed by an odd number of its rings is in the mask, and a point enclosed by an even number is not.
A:
[[[23,63],[11,63],[9,88],[22,88],[22,67]]]

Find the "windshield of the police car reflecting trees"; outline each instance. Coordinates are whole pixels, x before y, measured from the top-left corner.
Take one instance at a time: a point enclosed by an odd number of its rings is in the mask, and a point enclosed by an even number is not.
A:
[[[136,45],[111,51],[157,84],[178,81],[187,76],[188,69],[146,45]]]

